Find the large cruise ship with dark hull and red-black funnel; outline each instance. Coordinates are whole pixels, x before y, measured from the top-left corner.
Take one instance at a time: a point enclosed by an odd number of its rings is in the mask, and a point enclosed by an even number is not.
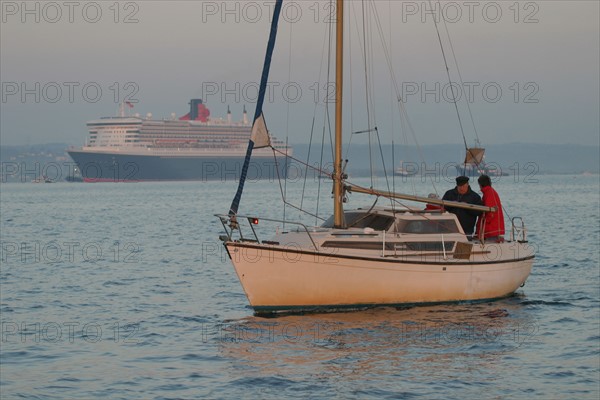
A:
[[[153,119],[148,113],[87,123],[82,147],[67,150],[85,182],[140,182],[239,179],[252,124],[244,108],[241,121],[211,119],[201,99],[190,101],[190,112],[177,118]],[[271,148],[254,150],[248,179],[285,178],[292,148],[271,137]],[[277,156],[275,157],[274,154]]]

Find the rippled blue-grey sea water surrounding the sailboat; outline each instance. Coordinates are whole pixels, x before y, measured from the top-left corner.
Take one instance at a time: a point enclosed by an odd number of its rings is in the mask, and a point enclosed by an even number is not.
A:
[[[270,319],[217,240],[234,182],[3,184],[0,397],[598,399],[599,178],[528,178],[495,184],[539,249],[514,297]],[[250,183],[241,210],[280,197]]]

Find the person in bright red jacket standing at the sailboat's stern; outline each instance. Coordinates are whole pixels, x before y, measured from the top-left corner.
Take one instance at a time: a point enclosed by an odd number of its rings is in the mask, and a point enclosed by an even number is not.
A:
[[[477,221],[477,237],[488,242],[504,242],[504,213],[500,196],[492,188],[492,180],[487,175],[481,175],[477,180],[483,193],[483,205],[496,207],[495,212],[486,212]]]

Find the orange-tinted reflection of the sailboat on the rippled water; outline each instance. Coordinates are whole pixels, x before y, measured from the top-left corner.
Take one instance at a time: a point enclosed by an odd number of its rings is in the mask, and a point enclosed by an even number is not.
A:
[[[248,317],[224,324],[212,339],[245,378],[370,379],[397,368],[431,380],[447,377],[454,366],[483,367],[535,342],[538,326],[520,301]]]

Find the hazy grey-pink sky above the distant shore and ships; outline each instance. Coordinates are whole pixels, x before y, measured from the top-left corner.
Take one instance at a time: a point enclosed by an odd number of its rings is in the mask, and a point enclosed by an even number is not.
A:
[[[388,42],[398,88],[420,144],[461,143],[428,2],[374,2]],[[434,2],[435,4],[436,2]],[[254,112],[269,31],[270,1],[2,1],[0,129],[3,145],[85,141],[86,121],[132,112],[153,118],[188,111],[204,98],[212,117]],[[307,143],[315,97],[323,99],[328,1],[285,2],[267,123],[280,138]],[[442,2],[441,12],[465,82],[459,94],[467,140],[474,138],[470,106],[483,144],[511,142],[598,145],[598,1]],[[362,2],[347,2],[360,11]],[[370,6],[369,6],[370,7]],[[372,10],[372,9],[371,9]],[[384,141],[400,125],[379,43],[367,21],[376,99],[370,113]],[[366,129],[360,12],[347,19],[347,129]],[[439,25],[445,37],[443,24]],[[291,49],[291,51],[290,51]],[[459,82],[445,40],[452,79]],[[319,78],[321,76],[321,78]],[[386,78],[386,82],[379,82]],[[320,79],[320,80],[319,80]],[[348,79],[348,80],[350,80]],[[318,83],[321,82],[321,83]],[[323,110],[316,111],[319,135]],[[352,117],[352,118],[351,118]],[[350,123],[351,120],[351,123]],[[365,138],[357,137],[358,142]]]

